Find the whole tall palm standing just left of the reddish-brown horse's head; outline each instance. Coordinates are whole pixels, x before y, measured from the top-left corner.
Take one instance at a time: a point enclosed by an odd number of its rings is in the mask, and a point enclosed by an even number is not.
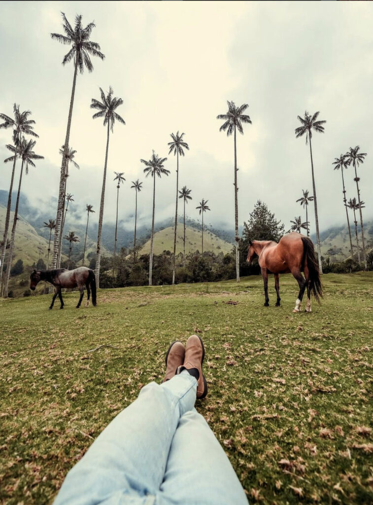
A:
[[[238,186],[237,186],[237,148],[236,148],[236,130],[243,135],[242,123],[251,123],[250,116],[243,114],[249,107],[247,104],[242,104],[236,107],[234,102],[227,101],[228,111],[226,114],[219,114],[217,119],[223,119],[224,123],[219,131],[227,131],[227,136],[234,134],[234,222],[235,222],[235,245],[236,245],[236,278],[240,282],[240,256],[239,256],[239,234],[238,234]]]

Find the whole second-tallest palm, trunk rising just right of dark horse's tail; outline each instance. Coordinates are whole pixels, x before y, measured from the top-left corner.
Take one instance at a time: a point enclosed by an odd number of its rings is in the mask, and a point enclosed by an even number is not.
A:
[[[113,133],[115,121],[119,121],[122,124],[126,124],[124,119],[115,110],[117,107],[123,104],[122,98],[116,98],[113,96],[113,88],[109,87],[109,92],[106,94],[99,88],[101,93],[101,102],[92,98],[91,109],[96,109],[98,112],[93,114],[92,118],[103,118],[103,126],[108,126],[108,138],[106,140],[106,151],[105,151],[105,165],[103,167],[103,180],[101,189],[101,201],[100,201],[100,213],[98,216],[98,235],[97,235],[97,254],[96,254],[96,286],[99,287],[100,280],[100,263],[101,263],[101,231],[102,231],[102,220],[103,220],[103,205],[105,200],[105,186],[106,186],[106,167],[108,166],[108,154],[109,154],[109,137],[110,131]]]

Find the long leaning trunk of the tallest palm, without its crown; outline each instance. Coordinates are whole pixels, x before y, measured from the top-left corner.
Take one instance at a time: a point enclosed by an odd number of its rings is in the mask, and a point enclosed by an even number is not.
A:
[[[65,174],[66,174],[66,164],[67,164],[66,155],[68,154],[68,149],[69,149],[70,128],[71,128],[71,119],[72,119],[72,115],[73,115],[73,105],[74,105],[74,95],[75,95],[77,71],[78,71],[78,59],[75,58],[73,88],[71,91],[70,109],[69,109],[69,116],[68,116],[68,120],[67,120],[67,130],[66,130],[66,137],[65,137],[65,144],[64,144],[65,147],[64,147],[64,154],[62,156],[61,173],[60,173],[60,189],[59,189],[59,196],[58,196],[55,238],[53,241],[52,268],[56,268],[56,266],[57,266],[58,250],[59,250],[59,244],[60,244],[60,235],[62,235],[61,222],[62,222],[62,218],[63,218],[62,207],[64,204],[64,187],[65,187]]]

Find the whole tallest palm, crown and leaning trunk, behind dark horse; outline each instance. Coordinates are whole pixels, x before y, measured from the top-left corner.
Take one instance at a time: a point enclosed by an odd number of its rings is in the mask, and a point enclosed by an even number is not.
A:
[[[57,217],[56,217],[56,229],[55,229],[55,239],[53,244],[53,259],[52,266],[56,267],[57,259],[58,259],[58,251],[60,245],[60,236],[61,232],[61,222],[63,219],[62,208],[64,204],[65,198],[65,174],[66,174],[66,163],[67,163],[67,153],[69,149],[70,143],[70,128],[71,128],[71,118],[73,115],[73,105],[74,105],[74,96],[75,96],[75,86],[76,86],[76,77],[79,69],[79,73],[82,74],[84,72],[84,67],[88,70],[88,72],[93,71],[93,65],[90,59],[90,56],[96,56],[103,60],[105,56],[100,52],[100,46],[97,42],[92,42],[89,40],[91,36],[92,30],[95,27],[94,23],[89,23],[85,28],[82,26],[82,16],[75,16],[75,26],[74,28],[71,26],[69,21],[67,20],[65,13],[62,14],[63,19],[63,29],[65,35],[61,35],[60,33],[51,33],[50,36],[54,40],[58,40],[62,44],[71,45],[70,51],[64,56],[62,60],[62,64],[66,65],[67,63],[73,61],[74,62],[74,77],[73,77],[73,87],[71,90],[71,98],[70,98],[70,108],[69,108],[69,116],[67,121],[67,129],[66,129],[66,137],[64,143],[64,155],[62,157],[61,164],[61,173],[60,173],[60,188],[59,188],[59,198],[58,198],[58,206],[57,206]]]

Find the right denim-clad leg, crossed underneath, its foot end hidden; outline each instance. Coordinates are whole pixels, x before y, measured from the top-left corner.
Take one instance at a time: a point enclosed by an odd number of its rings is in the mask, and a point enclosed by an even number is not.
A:
[[[195,409],[180,419],[156,503],[247,505],[226,453]]]

